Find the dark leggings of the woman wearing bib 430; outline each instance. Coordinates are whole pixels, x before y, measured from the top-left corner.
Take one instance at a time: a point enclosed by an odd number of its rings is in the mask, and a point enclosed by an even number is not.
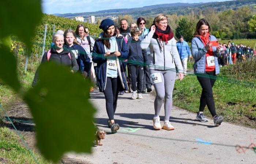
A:
[[[118,97],[118,92],[120,90],[120,86],[121,86],[121,81],[119,77],[107,78],[104,95],[106,99],[106,109],[107,109],[109,120],[114,120],[114,114],[116,112],[117,97]]]

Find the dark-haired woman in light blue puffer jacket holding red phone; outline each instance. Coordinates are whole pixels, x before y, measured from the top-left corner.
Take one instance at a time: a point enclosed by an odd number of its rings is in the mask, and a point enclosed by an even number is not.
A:
[[[221,45],[217,43],[215,36],[210,35],[210,32],[211,27],[207,20],[200,19],[196,25],[195,38],[191,42],[192,55],[195,59],[194,72],[202,87],[200,107],[196,119],[201,122],[208,121],[203,114],[207,105],[214,119],[214,125],[219,126],[223,117],[216,114],[212,87],[217,74],[219,74],[218,57],[221,56]]]

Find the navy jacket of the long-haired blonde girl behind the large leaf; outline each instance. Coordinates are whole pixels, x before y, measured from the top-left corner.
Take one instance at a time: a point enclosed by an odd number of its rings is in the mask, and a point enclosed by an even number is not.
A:
[[[78,63],[79,70],[82,73],[86,71],[87,74],[90,72],[90,58],[87,55],[84,48],[78,44],[73,44],[73,46],[69,47],[64,44],[64,47],[67,48],[71,53],[75,55],[76,62]]]

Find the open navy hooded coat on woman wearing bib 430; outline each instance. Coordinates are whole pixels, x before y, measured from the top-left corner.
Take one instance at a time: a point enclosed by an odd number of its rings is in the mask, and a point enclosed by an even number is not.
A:
[[[124,42],[123,38],[117,38],[116,37],[116,42],[117,42],[117,47],[118,51],[121,53],[119,57],[116,58],[117,62],[117,70],[118,70],[118,75],[121,80],[123,89],[121,88],[120,91],[123,91],[126,84],[126,78],[125,78],[125,68],[123,67],[123,60],[128,58],[128,47],[127,44]],[[104,57],[105,54],[105,48],[104,48],[104,43],[102,39],[97,40],[94,43],[93,47],[93,62],[97,63],[97,81],[98,81],[98,86],[99,86],[99,91],[104,92],[105,87],[106,87],[106,79],[107,79],[107,59]]]

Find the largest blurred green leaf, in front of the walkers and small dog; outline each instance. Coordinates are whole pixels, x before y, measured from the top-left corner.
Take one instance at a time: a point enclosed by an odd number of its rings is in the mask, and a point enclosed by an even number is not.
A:
[[[37,145],[54,162],[65,152],[91,152],[95,138],[91,83],[64,66],[39,67],[39,81],[25,95],[36,124]]]

